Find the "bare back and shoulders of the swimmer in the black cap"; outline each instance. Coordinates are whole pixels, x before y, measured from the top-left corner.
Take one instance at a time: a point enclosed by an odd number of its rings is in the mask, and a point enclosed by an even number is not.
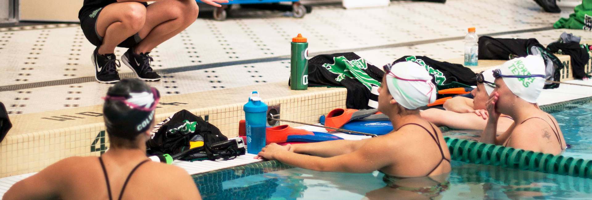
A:
[[[110,181],[112,199],[118,199],[127,176],[143,160],[117,162],[102,159]],[[60,160],[30,179],[20,183],[28,186],[34,184],[35,188],[41,190],[35,194],[46,194],[33,196],[36,199],[109,199],[105,175],[96,156]],[[149,161],[140,165],[130,176],[122,199],[201,199],[201,196],[184,169]]]

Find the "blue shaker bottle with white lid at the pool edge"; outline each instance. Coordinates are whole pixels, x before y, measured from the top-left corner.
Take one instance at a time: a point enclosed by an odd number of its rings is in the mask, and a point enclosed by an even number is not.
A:
[[[257,96],[253,96],[257,94]],[[265,128],[267,124],[267,104],[261,101],[259,93],[253,91],[249,102],[244,104],[245,130],[247,135],[247,153],[257,154],[265,147]]]

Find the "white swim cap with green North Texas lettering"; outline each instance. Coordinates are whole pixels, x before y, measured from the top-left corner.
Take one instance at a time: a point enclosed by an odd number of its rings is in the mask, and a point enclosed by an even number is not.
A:
[[[502,75],[525,76],[533,74],[545,75],[545,63],[543,58],[538,55],[528,55],[527,57],[514,58],[507,61],[500,67]],[[529,77],[529,78],[512,78],[503,77],[504,83],[516,94],[525,101],[536,103],[539,99],[540,92],[545,86],[545,78]]]

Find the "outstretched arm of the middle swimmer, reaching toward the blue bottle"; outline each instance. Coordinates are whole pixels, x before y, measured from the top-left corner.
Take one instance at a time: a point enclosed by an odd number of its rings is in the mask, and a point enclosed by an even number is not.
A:
[[[395,145],[395,142],[379,139],[378,137],[365,140],[365,143],[359,149],[330,158],[294,153],[275,143],[263,147],[259,152],[259,156],[270,160],[275,159],[298,168],[321,172],[370,173],[392,165],[391,156],[395,155],[392,153],[395,150],[392,146]],[[318,145],[321,145],[321,143],[318,143]]]

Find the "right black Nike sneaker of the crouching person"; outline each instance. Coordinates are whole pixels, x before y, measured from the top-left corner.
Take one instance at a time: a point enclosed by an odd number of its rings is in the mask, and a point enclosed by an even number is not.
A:
[[[148,54],[150,54],[150,52],[140,53],[140,55],[134,54],[134,51],[129,48],[126,53],[121,55],[121,61],[123,61],[123,64],[126,64],[127,67],[130,67],[140,80],[159,81],[160,76],[152,71],[152,67],[150,67],[150,62],[154,61],[154,59]]]

